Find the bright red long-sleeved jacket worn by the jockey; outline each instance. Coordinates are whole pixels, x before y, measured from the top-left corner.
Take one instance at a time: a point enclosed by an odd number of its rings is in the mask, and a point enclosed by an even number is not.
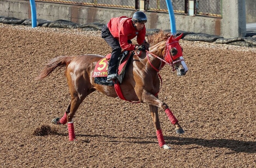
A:
[[[131,17],[121,16],[113,17],[108,23],[110,33],[116,38],[122,49],[134,50],[135,45],[129,44],[127,40],[131,40],[137,36],[137,42],[140,45],[145,40],[146,28],[145,26],[141,31],[135,29]]]

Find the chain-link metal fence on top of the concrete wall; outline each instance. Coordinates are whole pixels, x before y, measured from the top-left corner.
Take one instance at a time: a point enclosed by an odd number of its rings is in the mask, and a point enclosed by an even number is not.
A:
[[[103,7],[117,7],[142,9],[144,11],[160,11],[168,12],[166,0],[40,0],[48,2],[92,5]],[[221,1],[222,0],[171,0],[173,11],[175,13],[189,14],[191,6],[193,6],[193,15],[204,15],[221,17]],[[192,3],[191,3],[192,2]],[[193,4],[193,5],[191,5]],[[191,14],[190,14],[191,15]]]

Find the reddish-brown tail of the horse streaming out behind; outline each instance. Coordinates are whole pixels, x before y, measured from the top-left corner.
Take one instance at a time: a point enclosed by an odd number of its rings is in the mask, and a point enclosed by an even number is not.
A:
[[[70,62],[75,58],[76,56],[58,56],[56,58],[53,58],[51,61],[49,61],[44,69],[42,70],[41,74],[39,74],[38,77],[36,77],[36,80],[42,80],[45,77],[47,77],[55,68],[64,67],[70,64]]]

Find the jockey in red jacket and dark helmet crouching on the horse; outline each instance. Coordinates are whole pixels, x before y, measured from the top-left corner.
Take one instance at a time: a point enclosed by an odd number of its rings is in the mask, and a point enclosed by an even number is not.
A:
[[[103,26],[101,37],[112,48],[109,61],[107,81],[116,79],[117,64],[121,50],[148,50],[149,44],[145,40],[147,16],[137,11],[132,17],[113,17]],[[131,39],[137,36],[138,45],[132,44]]]

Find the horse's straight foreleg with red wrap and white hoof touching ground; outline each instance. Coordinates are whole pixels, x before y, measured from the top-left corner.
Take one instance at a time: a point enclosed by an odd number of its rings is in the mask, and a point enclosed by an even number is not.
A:
[[[170,149],[170,147],[168,145],[166,145],[166,143],[164,142],[164,136],[163,136],[163,133],[161,130],[160,121],[159,121],[159,117],[158,117],[158,107],[149,105],[149,109],[151,112],[151,116],[153,118],[154,126],[156,128],[157,140],[158,140],[158,144],[159,144],[160,148]]]

